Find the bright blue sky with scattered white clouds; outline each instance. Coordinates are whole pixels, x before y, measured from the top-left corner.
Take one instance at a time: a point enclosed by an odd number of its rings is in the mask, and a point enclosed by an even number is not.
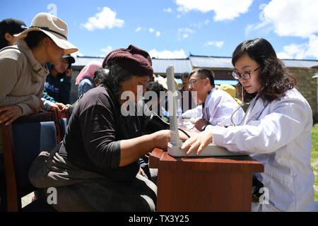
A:
[[[27,26],[40,12],[69,25],[78,55],[104,57],[134,44],[151,57],[231,57],[237,44],[264,37],[283,59],[318,59],[317,0],[2,1],[0,20]]]

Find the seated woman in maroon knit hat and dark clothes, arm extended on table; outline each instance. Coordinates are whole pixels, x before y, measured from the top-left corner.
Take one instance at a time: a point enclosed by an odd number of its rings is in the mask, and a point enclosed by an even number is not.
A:
[[[33,162],[30,182],[44,188],[45,196],[47,188],[57,189],[55,209],[155,211],[156,186],[138,174],[138,160],[154,148],[167,149],[170,131],[144,135],[155,129],[153,118],[134,114],[153,76],[151,65],[149,54],[134,45],[110,52],[103,62],[107,76],[78,101],[64,141]],[[128,100],[124,93],[131,94]],[[128,109],[126,102],[133,105]],[[124,116],[130,107],[133,114]],[[47,172],[39,174],[39,167],[47,165]]]

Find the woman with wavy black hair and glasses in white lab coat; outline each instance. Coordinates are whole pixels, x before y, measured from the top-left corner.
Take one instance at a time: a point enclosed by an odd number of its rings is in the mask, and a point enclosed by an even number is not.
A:
[[[242,124],[207,126],[182,149],[197,149],[199,154],[212,142],[262,162],[264,173],[254,176],[264,189],[258,188],[261,199],[252,203],[252,211],[314,210],[310,105],[268,41],[242,42],[232,54],[232,64],[232,75],[242,83],[245,102],[250,102]]]

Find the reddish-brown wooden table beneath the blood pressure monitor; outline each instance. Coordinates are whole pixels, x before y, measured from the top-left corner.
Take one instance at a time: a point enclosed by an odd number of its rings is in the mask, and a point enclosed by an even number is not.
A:
[[[250,211],[252,174],[264,165],[249,156],[172,157],[156,148],[149,167],[158,168],[157,211]]]

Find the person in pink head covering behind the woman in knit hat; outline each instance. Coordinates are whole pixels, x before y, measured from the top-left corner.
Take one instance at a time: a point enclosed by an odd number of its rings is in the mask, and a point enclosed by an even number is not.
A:
[[[81,97],[88,90],[94,88],[93,77],[97,69],[100,69],[102,64],[98,61],[89,62],[76,77],[75,85],[78,85],[78,97]]]

